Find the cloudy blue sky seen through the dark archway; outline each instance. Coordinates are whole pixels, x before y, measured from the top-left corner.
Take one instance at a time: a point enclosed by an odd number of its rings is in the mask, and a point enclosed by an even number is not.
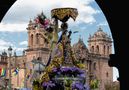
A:
[[[0,23],[0,52],[7,50],[11,45],[13,50],[21,55],[27,48],[26,28],[29,20],[34,19],[42,11],[50,18],[50,11],[59,7],[78,9],[79,15],[76,21],[72,19],[68,21],[69,30],[79,31],[72,35],[72,44],[81,37],[87,46],[89,34],[93,35],[99,26],[111,35],[106,18],[94,0],[17,0]],[[114,80],[116,80],[115,77],[118,76],[116,69],[114,73]]]

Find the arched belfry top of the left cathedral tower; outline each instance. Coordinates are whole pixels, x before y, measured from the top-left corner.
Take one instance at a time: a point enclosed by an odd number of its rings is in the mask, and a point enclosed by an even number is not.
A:
[[[49,48],[49,44],[45,41],[45,29],[36,27],[31,20],[28,24],[28,48]]]

